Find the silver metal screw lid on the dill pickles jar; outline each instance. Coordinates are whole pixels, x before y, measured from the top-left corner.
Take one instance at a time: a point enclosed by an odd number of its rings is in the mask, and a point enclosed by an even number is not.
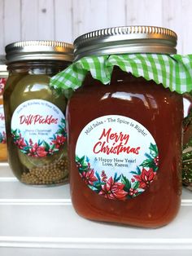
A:
[[[73,60],[73,46],[66,42],[22,41],[6,46],[7,64],[24,60]]]

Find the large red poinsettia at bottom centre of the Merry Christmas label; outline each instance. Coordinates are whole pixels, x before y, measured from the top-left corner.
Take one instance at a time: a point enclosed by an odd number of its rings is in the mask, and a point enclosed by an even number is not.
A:
[[[108,199],[124,200],[128,192],[125,192],[123,188],[124,184],[114,182],[114,180],[111,177],[110,179],[107,180],[107,183],[102,185],[102,190],[98,194]]]

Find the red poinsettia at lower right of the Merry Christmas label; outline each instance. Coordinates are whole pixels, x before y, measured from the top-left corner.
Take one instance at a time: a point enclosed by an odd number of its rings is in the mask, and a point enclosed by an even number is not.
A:
[[[155,172],[152,168],[146,170],[142,168],[141,175],[133,175],[135,179],[139,182],[139,188],[146,188],[149,187],[150,183],[154,180]]]

